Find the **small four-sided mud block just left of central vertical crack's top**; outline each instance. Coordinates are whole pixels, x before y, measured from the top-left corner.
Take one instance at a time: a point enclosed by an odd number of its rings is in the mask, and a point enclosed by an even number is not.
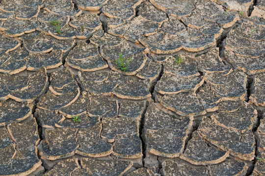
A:
[[[146,101],[123,101],[120,104],[119,116],[140,119],[146,103]]]

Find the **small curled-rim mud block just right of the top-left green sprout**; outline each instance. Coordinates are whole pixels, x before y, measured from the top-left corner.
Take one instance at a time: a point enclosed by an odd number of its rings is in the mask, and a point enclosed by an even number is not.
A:
[[[58,40],[69,40],[69,39],[75,39],[76,38],[76,29],[75,28],[68,26],[68,25],[65,25],[65,26],[61,27],[60,30],[61,30],[61,33],[58,33],[58,31],[57,32],[49,31],[49,34]]]

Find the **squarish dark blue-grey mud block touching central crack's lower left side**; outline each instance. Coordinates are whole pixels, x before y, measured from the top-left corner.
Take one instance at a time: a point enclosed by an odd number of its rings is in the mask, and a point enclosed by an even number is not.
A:
[[[142,142],[137,134],[116,135],[113,154],[121,158],[139,158],[142,154]]]

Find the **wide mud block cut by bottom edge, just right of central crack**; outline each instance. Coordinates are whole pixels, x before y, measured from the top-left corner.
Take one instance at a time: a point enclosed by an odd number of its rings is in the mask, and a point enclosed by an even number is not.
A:
[[[206,167],[165,160],[162,163],[165,176],[209,176]]]

